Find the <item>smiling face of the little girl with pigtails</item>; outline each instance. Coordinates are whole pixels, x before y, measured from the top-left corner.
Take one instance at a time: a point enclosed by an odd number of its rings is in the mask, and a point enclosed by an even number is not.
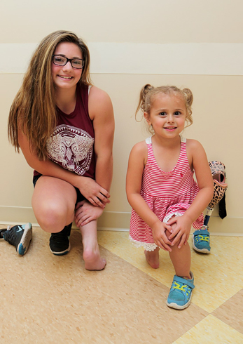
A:
[[[144,112],[144,117],[148,125],[153,126],[155,135],[161,138],[174,138],[185,126],[185,100],[180,94],[158,93],[153,97],[150,113]]]

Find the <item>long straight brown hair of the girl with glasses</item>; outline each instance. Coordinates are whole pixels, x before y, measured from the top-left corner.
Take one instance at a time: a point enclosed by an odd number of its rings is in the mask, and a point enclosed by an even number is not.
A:
[[[8,139],[15,150],[20,152],[18,130],[21,130],[39,160],[48,157],[46,142],[56,125],[51,64],[55,48],[62,42],[74,43],[81,49],[85,65],[79,83],[92,85],[88,46],[73,32],[55,31],[45,37],[36,48],[8,117]]]

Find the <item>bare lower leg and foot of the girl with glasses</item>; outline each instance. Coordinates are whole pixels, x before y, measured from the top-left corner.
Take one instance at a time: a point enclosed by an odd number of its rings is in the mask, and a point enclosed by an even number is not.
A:
[[[97,220],[80,228],[83,238],[83,260],[87,270],[103,270],[106,260],[101,258],[97,242]]]

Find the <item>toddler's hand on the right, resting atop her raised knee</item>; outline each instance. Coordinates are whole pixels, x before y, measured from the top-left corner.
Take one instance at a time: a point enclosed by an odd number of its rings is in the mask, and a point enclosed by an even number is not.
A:
[[[183,216],[174,216],[167,222],[167,225],[173,228],[172,234],[169,235],[169,240],[172,240],[172,246],[179,242],[178,248],[181,249],[181,246],[183,244],[186,245],[188,242],[192,221],[184,214]]]

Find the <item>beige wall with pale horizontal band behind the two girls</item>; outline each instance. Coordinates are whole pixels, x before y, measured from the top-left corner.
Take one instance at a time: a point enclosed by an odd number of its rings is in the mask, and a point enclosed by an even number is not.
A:
[[[4,51],[15,51],[18,44],[15,55],[25,56],[25,44],[37,44],[56,29],[71,29],[92,46],[92,79],[96,86],[111,96],[116,117],[111,204],[106,207],[99,225],[129,226],[130,206],[125,197],[127,159],[134,143],[148,136],[144,126],[134,120],[141,86],[146,83],[155,86],[175,84],[190,88],[195,99],[194,124],[186,129],[184,135],[199,140],[209,160],[221,160],[226,166],[228,217],[219,219],[215,210],[209,223],[211,231],[243,234],[240,197],[243,194],[240,179],[243,171],[240,159],[243,73],[242,62],[239,62],[243,57],[240,55],[243,30],[239,14],[243,10],[242,2],[160,0],[151,1],[149,8],[144,0],[123,3],[73,1],[72,4],[60,0],[58,4],[57,1],[51,4],[32,1],[30,4],[25,0],[20,5],[11,0],[0,8],[0,27],[5,33],[0,38],[0,223],[36,221],[31,209],[32,169],[22,154],[15,154],[6,134],[8,111],[20,87],[25,66],[20,66],[16,72],[11,65],[13,62],[8,62],[11,58]],[[36,18],[35,11],[39,13]],[[102,46],[107,47],[102,42],[109,43],[108,47],[115,55],[119,51],[117,59],[111,61],[113,65],[105,62],[111,53],[107,52],[108,48],[102,51]],[[137,44],[140,44],[139,48]],[[196,44],[197,52],[190,54],[190,63],[186,65],[187,60],[183,63],[182,58],[186,59],[191,44]],[[175,55],[165,57],[161,53],[161,59],[165,60],[160,65],[160,53],[155,56],[154,52],[168,49]],[[207,60],[210,53],[200,60],[206,49],[209,52],[214,50],[214,60]],[[225,53],[221,54],[220,49]],[[239,51],[235,58],[234,49]],[[136,55],[140,51],[143,51],[141,59]],[[155,58],[158,58],[156,62]],[[163,66],[166,66],[164,71]]]

